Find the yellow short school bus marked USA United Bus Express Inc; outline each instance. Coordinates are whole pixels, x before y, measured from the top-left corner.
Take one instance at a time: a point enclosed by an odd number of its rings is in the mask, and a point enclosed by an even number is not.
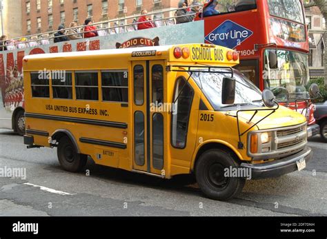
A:
[[[23,59],[28,148],[57,147],[63,169],[99,165],[161,178],[195,174],[228,200],[246,179],[301,170],[306,118],[232,67],[237,52],[186,44]]]

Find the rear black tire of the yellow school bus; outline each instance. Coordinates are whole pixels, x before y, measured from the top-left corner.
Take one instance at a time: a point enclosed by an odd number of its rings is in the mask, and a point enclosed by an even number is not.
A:
[[[60,138],[57,155],[61,167],[68,172],[80,172],[88,160],[87,155],[77,153],[75,146],[68,136]]]

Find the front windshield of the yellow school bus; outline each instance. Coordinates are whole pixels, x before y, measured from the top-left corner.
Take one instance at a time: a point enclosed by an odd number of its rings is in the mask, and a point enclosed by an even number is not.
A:
[[[202,70],[202,69],[201,69]],[[199,85],[204,95],[211,103],[215,110],[221,107],[232,107],[235,105],[262,105],[261,91],[239,71],[234,70],[234,78],[236,79],[235,104],[223,105],[221,103],[221,88],[224,76],[230,74],[221,74],[211,72],[193,72],[192,79]]]

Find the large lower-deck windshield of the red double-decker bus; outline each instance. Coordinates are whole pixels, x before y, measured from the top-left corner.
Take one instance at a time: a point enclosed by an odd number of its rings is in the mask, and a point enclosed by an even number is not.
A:
[[[277,51],[278,65],[276,69],[269,67],[269,51],[265,52],[264,79],[266,88],[276,96],[277,101],[295,101],[298,98],[308,98],[306,84],[308,83],[308,56],[288,50]]]

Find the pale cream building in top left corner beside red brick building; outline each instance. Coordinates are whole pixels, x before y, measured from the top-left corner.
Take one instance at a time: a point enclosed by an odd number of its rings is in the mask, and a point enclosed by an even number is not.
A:
[[[8,38],[14,38],[24,34],[21,25],[21,1],[22,0],[0,0],[1,35],[4,34],[8,36]]]

